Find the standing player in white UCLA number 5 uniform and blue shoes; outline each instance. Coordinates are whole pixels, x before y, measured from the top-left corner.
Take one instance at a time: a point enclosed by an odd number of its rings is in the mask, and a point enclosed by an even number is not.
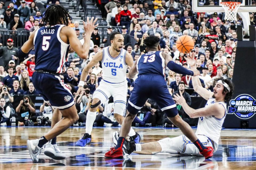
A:
[[[86,115],[86,132],[82,139],[78,140],[76,145],[85,146],[91,142],[91,131],[93,123],[96,118],[96,111],[101,103],[104,103],[111,95],[114,98],[114,117],[119,124],[123,122],[123,112],[126,108],[127,101],[127,80],[126,71],[128,66],[133,66],[133,58],[131,54],[126,53],[123,49],[124,37],[119,32],[114,32],[110,35],[111,46],[103,48],[103,50],[97,52],[93,59],[86,65],[82,71],[82,75],[79,82],[79,89],[76,96],[82,91],[85,77],[97,62],[102,62],[102,77],[98,88],[92,96],[92,102],[89,111]],[[140,136],[131,128],[130,140],[139,143]]]

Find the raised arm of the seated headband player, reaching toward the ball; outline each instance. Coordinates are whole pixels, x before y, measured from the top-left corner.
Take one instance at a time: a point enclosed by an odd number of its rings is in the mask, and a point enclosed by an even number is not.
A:
[[[185,57],[185,59],[187,60],[187,63],[190,65],[191,70],[197,69],[196,60],[194,58],[194,52],[187,54],[187,57]],[[195,92],[197,92],[205,100],[209,100],[209,98],[213,95],[213,92],[210,92],[206,88],[203,88],[198,76],[192,77],[192,84],[193,84]]]

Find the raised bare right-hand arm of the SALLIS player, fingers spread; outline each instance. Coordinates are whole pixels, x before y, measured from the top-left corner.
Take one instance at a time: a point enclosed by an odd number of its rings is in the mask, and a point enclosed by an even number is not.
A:
[[[70,46],[74,49],[74,51],[78,54],[78,56],[82,59],[87,59],[89,50],[90,50],[90,40],[91,40],[91,34],[93,33],[93,30],[95,27],[98,26],[98,24],[95,25],[97,18],[93,20],[94,17],[89,20],[89,17],[87,17],[87,22],[83,22],[83,27],[86,32],[85,35],[85,42],[83,45],[78,40],[77,35],[73,28],[70,27],[64,27],[63,33],[67,36]],[[62,31],[61,31],[62,32]]]

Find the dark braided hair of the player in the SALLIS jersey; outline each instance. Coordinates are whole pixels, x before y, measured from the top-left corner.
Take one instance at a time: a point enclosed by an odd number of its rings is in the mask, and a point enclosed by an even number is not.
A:
[[[45,11],[45,14],[42,17],[42,24],[44,26],[50,25],[54,26],[57,24],[69,25],[70,18],[69,13],[60,5],[51,5]]]

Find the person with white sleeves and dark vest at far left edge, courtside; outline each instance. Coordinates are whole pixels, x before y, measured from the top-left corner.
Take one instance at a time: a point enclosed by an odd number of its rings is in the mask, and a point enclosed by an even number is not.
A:
[[[5,98],[0,99],[1,126],[10,125],[11,108],[6,105]]]

